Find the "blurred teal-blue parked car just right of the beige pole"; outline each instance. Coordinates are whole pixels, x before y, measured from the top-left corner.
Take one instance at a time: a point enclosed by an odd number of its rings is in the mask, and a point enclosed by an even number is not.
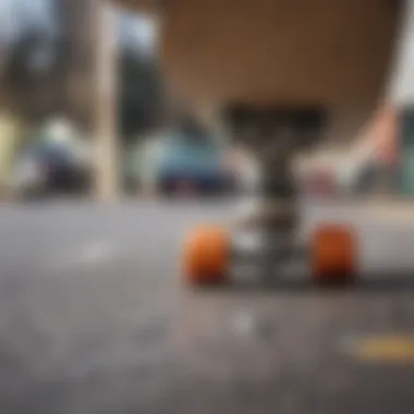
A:
[[[131,151],[134,153],[134,151]],[[212,136],[196,131],[161,131],[136,147],[131,171],[144,192],[163,195],[216,195],[235,186],[224,150]]]

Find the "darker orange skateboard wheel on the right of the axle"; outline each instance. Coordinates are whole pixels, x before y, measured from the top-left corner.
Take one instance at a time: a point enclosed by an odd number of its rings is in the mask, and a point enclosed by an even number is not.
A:
[[[312,239],[312,271],[321,283],[343,283],[354,279],[356,240],[345,226],[325,224]]]

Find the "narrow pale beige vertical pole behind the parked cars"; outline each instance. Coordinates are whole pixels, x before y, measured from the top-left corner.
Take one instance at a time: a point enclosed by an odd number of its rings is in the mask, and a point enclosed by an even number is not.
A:
[[[95,131],[96,196],[118,195],[117,15],[110,0],[96,1]]]

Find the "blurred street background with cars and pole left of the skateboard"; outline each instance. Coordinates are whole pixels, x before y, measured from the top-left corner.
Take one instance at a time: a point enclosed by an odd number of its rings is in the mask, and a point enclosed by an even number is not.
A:
[[[2,196],[229,191],[223,145],[168,96],[157,17],[99,8],[2,2]]]

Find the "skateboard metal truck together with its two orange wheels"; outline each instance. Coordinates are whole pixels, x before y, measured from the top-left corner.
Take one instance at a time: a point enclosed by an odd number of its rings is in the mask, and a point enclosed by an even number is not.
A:
[[[346,224],[321,224],[303,245],[294,238],[299,217],[290,161],[309,144],[309,136],[320,132],[320,113],[312,108],[272,108],[272,111],[261,112],[256,109],[248,112],[244,108],[234,113],[230,124],[235,126],[235,139],[244,139],[243,144],[261,167],[261,182],[256,188],[258,207],[236,227],[242,232],[254,230],[259,242],[246,248],[240,243],[238,231],[216,224],[193,230],[184,245],[185,282],[195,285],[229,282],[233,265],[246,263],[256,265],[258,273],[268,279],[300,261],[307,265],[309,278],[317,282],[351,281],[357,248]],[[252,124],[255,126],[253,138]]]

